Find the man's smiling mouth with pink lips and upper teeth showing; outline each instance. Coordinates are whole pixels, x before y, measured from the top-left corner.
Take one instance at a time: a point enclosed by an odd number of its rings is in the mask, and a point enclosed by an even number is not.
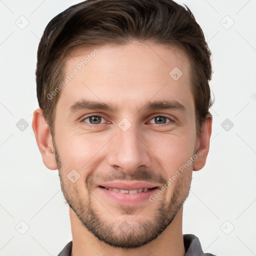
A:
[[[159,189],[158,184],[144,181],[111,181],[99,184],[104,200],[121,205],[133,205],[149,200],[149,197]]]

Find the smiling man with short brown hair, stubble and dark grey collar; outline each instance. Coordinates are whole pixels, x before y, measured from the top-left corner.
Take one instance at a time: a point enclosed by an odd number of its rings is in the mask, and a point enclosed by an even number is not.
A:
[[[182,234],[210,78],[201,28],[171,0],[87,0],[48,23],[32,127],[70,206],[59,255],[212,255]]]

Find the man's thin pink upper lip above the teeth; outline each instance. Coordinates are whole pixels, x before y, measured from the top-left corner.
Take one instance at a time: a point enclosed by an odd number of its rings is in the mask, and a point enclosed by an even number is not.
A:
[[[146,181],[124,181],[124,180],[117,181],[116,180],[116,181],[108,181],[108,182],[100,183],[99,186],[133,190],[138,188],[153,188],[158,185],[150,182],[146,182]]]

